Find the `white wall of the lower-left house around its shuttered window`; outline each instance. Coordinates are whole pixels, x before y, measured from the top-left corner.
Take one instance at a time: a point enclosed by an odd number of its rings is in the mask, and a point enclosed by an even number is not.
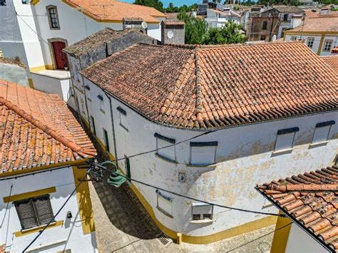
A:
[[[56,215],[56,212],[61,208],[76,187],[71,167],[53,170],[52,172],[43,172],[27,177],[20,177],[13,180],[0,181],[1,219],[6,212],[6,203],[4,203],[3,197],[9,196],[11,185],[13,185],[11,195],[19,195],[24,192],[56,187],[56,192],[50,194],[51,207],[54,215]],[[68,211],[73,215],[71,220],[66,217]],[[46,244],[66,241],[59,244],[57,247],[41,249],[41,252],[58,252],[65,249],[71,249],[72,252],[97,252],[95,232],[86,235],[83,234],[76,195],[71,197],[60,215],[56,217],[56,221],[61,220],[64,221],[63,226],[46,229],[30,249]],[[34,237],[36,237],[37,232],[26,234],[22,237],[16,237],[13,233],[19,232],[20,230],[21,224],[16,209],[12,203],[9,203],[4,226],[0,229],[0,244],[6,243],[6,246],[9,247],[7,249],[11,249],[11,252],[22,252]]]

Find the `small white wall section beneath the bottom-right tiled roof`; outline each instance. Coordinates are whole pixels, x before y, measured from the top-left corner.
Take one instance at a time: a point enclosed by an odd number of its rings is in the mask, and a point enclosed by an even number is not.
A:
[[[291,225],[285,253],[326,253],[329,252],[295,223]]]

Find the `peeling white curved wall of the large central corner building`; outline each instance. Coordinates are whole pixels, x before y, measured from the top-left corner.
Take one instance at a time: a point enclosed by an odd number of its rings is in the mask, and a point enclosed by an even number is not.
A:
[[[96,135],[104,143],[102,128],[108,131],[111,153],[115,155],[108,99],[101,89],[90,81],[85,81],[85,85],[91,88],[92,102],[88,103],[88,110],[95,119]],[[97,98],[99,94],[104,98],[105,113],[99,108]],[[180,130],[151,123],[118,100],[114,98],[112,100],[118,158],[155,149],[155,133],[175,138],[177,143],[200,134],[199,131]],[[119,112],[116,110],[118,106],[126,110],[128,131],[119,125]],[[319,113],[218,130],[193,140],[218,142],[217,165],[214,167],[188,165],[190,143],[187,142],[175,146],[177,162],[158,158],[155,153],[131,158],[131,177],[200,200],[275,213],[277,210],[274,207],[263,207],[265,200],[255,191],[255,184],[332,165],[337,155],[338,124],[332,126],[328,143],[317,147],[310,147],[309,144],[317,123],[337,120],[337,117],[337,112]],[[299,132],[295,135],[295,147],[292,152],[274,154],[277,130],[293,127],[298,127]],[[119,165],[125,167],[123,161],[120,161]],[[178,181],[178,172],[185,173],[185,182]],[[157,205],[155,189],[137,183],[135,186],[148,200],[157,219],[165,227],[184,234],[193,236],[214,234],[265,217],[215,207],[213,222],[193,224],[190,222],[192,201],[163,192],[168,197],[173,197],[173,217],[168,217],[155,208]]]

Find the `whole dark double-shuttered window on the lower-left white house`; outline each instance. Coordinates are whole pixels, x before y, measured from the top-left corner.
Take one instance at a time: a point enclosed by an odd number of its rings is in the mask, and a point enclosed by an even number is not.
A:
[[[14,202],[22,229],[39,227],[53,219],[49,195]]]

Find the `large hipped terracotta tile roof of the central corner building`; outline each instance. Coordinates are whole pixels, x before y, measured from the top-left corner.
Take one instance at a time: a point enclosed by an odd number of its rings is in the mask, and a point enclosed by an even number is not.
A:
[[[139,43],[82,74],[146,118],[176,128],[223,128],[338,108],[337,74],[300,42]]]

